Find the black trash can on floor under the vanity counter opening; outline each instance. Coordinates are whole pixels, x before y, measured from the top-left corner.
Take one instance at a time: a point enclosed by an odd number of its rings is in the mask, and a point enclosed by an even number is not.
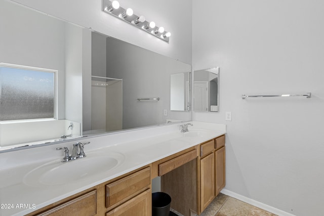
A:
[[[171,197],[164,192],[152,193],[152,216],[169,216]]]

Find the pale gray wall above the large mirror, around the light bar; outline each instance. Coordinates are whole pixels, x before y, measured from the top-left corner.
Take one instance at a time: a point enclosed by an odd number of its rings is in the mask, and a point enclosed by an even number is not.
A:
[[[144,15],[146,20],[154,21],[157,26],[163,26],[167,31],[170,31],[172,35],[169,44],[135,28],[123,20],[116,19],[114,16],[102,12],[102,1],[14,1],[191,64],[191,1],[124,0],[120,2],[121,7],[132,8],[134,14]]]

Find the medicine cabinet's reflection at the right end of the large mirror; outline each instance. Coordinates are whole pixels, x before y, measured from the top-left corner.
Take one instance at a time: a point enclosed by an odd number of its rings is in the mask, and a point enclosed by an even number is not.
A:
[[[190,110],[190,72],[170,75],[170,110]]]

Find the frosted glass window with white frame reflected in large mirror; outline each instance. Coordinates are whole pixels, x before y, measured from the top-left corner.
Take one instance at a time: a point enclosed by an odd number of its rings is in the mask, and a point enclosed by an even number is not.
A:
[[[0,65],[0,101],[1,121],[55,118],[55,72]]]

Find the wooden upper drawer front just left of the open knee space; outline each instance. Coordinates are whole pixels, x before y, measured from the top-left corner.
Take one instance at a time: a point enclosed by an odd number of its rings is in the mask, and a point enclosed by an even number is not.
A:
[[[106,208],[130,199],[151,184],[151,170],[146,167],[127,177],[106,185]]]

